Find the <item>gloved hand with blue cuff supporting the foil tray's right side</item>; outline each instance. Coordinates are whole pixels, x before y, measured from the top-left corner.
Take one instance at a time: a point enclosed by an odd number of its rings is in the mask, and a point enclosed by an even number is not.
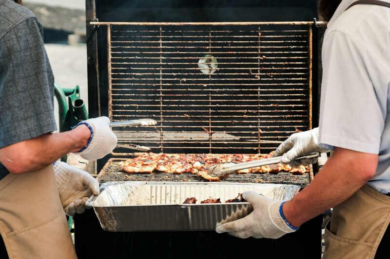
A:
[[[217,233],[228,232],[237,238],[272,238],[296,231],[280,214],[282,202],[275,202],[254,191],[246,191],[242,197],[252,203],[254,211],[248,216],[216,227]]]

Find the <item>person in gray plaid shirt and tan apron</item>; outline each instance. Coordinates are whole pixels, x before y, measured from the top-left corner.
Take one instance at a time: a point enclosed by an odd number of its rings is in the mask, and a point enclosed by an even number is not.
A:
[[[102,158],[117,138],[107,117],[53,133],[54,76],[42,28],[20,1],[0,0],[0,234],[9,258],[76,258],[65,213],[84,212],[99,185],[55,161]]]

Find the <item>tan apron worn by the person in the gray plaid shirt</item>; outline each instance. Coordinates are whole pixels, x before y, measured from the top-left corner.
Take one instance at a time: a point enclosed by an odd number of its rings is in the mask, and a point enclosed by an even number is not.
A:
[[[77,258],[53,166],[0,181],[0,234],[10,259]]]

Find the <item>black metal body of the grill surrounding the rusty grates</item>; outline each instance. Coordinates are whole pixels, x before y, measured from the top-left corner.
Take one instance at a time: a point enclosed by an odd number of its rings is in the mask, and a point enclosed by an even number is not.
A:
[[[107,72],[109,71],[107,28],[105,28],[105,26],[90,26],[90,22],[311,21],[317,16],[316,1],[305,0],[86,0],[86,12],[89,89],[88,101],[89,115],[91,118],[109,115],[120,116],[126,115],[126,113],[115,113],[114,111],[113,114],[109,114],[110,91],[109,73]],[[159,28],[154,29],[158,30]],[[301,130],[310,128],[310,126],[315,127],[318,121],[317,97],[319,94],[319,87],[317,82],[319,79],[317,64],[319,49],[317,39],[320,37],[321,33],[322,29],[312,26],[312,125],[309,125],[308,121],[300,121],[299,123],[301,124],[299,124],[299,126],[301,127]],[[115,44],[113,46],[120,45],[120,43]],[[120,55],[118,56],[120,57]],[[201,76],[202,75],[197,75],[196,78],[201,78]],[[252,94],[257,93],[257,89],[251,90],[253,90]],[[131,91],[128,93],[133,94]],[[138,98],[142,99],[141,97]],[[224,97],[221,98],[223,100]],[[243,97],[243,100],[246,99]],[[111,104],[122,103],[118,101],[117,103],[114,102]],[[265,102],[265,104],[268,103]],[[208,110],[205,112],[207,113]],[[178,125],[183,124],[179,123]],[[218,124],[213,125],[218,126]],[[171,126],[175,126],[175,124],[172,124]],[[291,126],[295,125],[291,124]],[[281,136],[280,140],[282,140],[290,134],[289,131],[292,131],[292,128],[286,130],[284,135],[270,133],[269,136],[271,138]],[[245,139],[251,136],[252,135],[240,135],[239,137]],[[209,142],[213,141],[214,140]],[[258,143],[255,143],[251,146],[253,150],[250,151],[239,151],[239,145],[236,145],[234,147],[237,147],[237,150],[233,153],[257,153],[258,151],[261,153],[267,153],[274,148],[273,145],[275,145],[275,143],[266,143],[265,145],[259,147]],[[180,145],[177,146],[179,147]],[[169,152],[169,150],[164,152],[189,153],[188,150],[178,150],[178,147],[175,146],[175,148],[172,149],[172,152]],[[215,147],[223,147],[223,143],[217,143]],[[159,146],[156,146],[156,148],[157,149],[153,151],[159,152]],[[209,148],[210,147],[207,147],[205,150],[200,149],[198,153],[209,153]],[[263,148],[264,150],[262,150]],[[121,152],[121,150],[118,152]],[[218,148],[214,150],[212,149],[211,152],[222,153],[221,149]],[[191,153],[196,152],[192,151]],[[98,172],[103,168],[109,158],[111,157],[107,156],[98,161]],[[315,172],[314,168],[314,173]],[[290,176],[287,175],[286,177]],[[107,179],[109,180],[109,178]],[[305,182],[305,184],[307,184],[307,182]],[[101,229],[98,219],[92,210],[88,210],[81,215],[76,215],[74,219],[75,244],[79,258],[272,257],[277,259],[321,257],[322,216],[312,219],[311,221],[303,224],[297,232],[286,235],[278,240],[240,240],[227,234],[217,234],[214,231],[132,233],[106,232]]]

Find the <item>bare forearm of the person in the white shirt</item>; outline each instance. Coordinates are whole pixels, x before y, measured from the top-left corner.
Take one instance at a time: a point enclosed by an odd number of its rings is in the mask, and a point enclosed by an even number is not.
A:
[[[362,154],[367,159],[357,163]],[[377,155],[336,148],[312,183],[284,204],[286,219],[299,226],[347,200],[374,175],[377,161]]]

